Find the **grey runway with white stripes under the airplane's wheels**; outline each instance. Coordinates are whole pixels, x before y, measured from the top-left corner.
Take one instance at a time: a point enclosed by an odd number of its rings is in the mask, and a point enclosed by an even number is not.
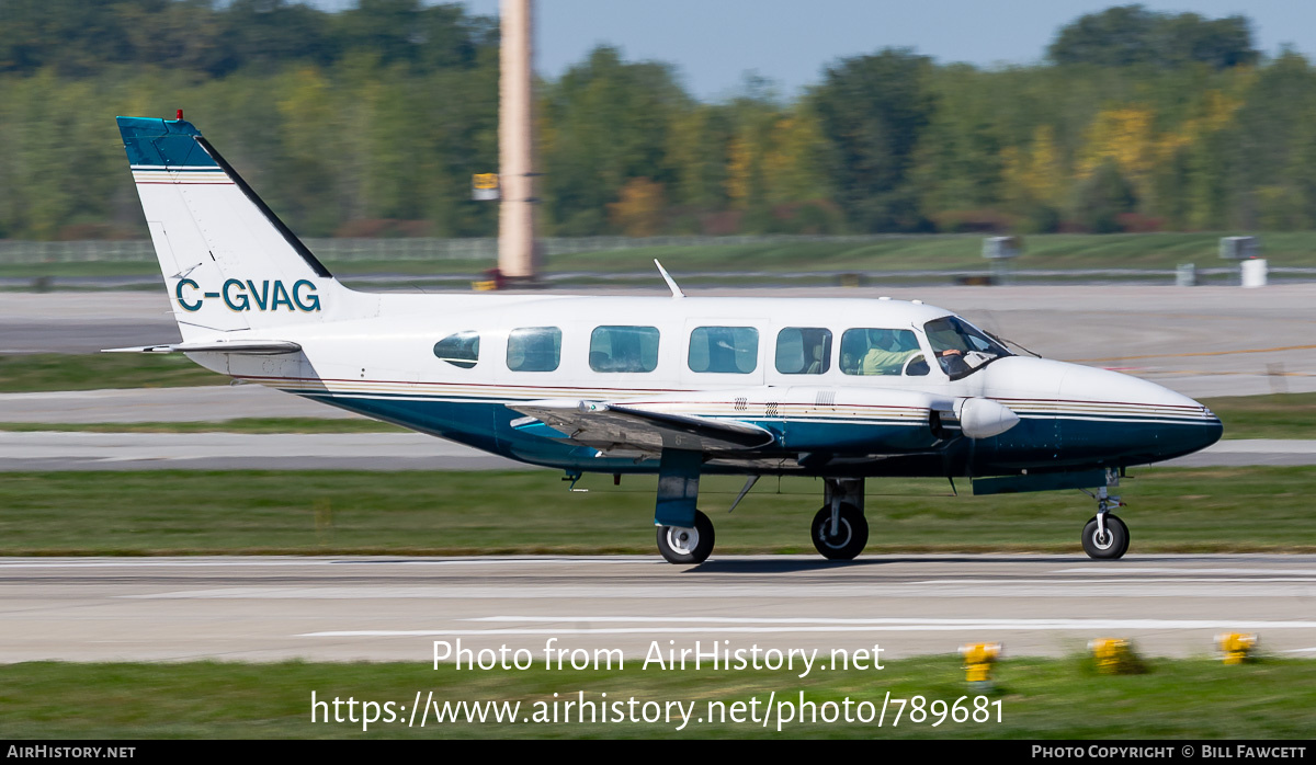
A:
[[[729,640],[1059,656],[1092,638],[1205,656],[1245,631],[1316,656],[1316,556],[4,559],[0,661],[399,660],[467,648],[621,649]]]

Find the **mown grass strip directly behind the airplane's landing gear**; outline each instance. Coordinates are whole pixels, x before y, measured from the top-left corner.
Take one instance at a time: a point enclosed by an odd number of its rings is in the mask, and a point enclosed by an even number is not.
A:
[[[1132,551],[1316,552],[1316,468],[1134,471]],[[507,472],[47,472],[0,475],[0,555],[653,555],[653,476]],[[705,477],[720,553],[813,553],[821,482]],[[959,482],[967,492],[966,481]],[[951,497],[945,481],[870,481],[869,553],[1079,552],[1078,492]]]

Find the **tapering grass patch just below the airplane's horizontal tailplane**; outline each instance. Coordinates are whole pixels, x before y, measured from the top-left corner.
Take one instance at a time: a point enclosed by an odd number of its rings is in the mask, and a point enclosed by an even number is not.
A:
[[[0,356],[0,393],[228,385],[182,354],[18,354]]]

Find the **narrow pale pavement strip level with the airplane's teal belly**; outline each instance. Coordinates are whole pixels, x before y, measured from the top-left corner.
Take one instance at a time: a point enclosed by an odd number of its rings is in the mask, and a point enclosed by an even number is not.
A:
[[[1163,467],[1316,465],[1316,440],[1224,440]],[[480,471],[532,468],[418,432],[0,431],[7,471]]]

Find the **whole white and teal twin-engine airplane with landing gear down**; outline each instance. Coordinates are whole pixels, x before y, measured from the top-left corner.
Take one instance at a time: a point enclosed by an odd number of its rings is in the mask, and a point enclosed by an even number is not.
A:
[[[670,297],[349,289],[182,112],[117,121],[182,342],[113,351],[186,354],[572,481],[657,473],[672,564],[713,549],[704,475],[746,477],[733,509],[761,476],[821,478],[809,535],[842,561],[867,544],[867,478],[1080,489],[1082,547],[1115,560],[1126,468],[1223,432],[1186,396],[1016,354],[917,300],[687,297],[661,264]]]

